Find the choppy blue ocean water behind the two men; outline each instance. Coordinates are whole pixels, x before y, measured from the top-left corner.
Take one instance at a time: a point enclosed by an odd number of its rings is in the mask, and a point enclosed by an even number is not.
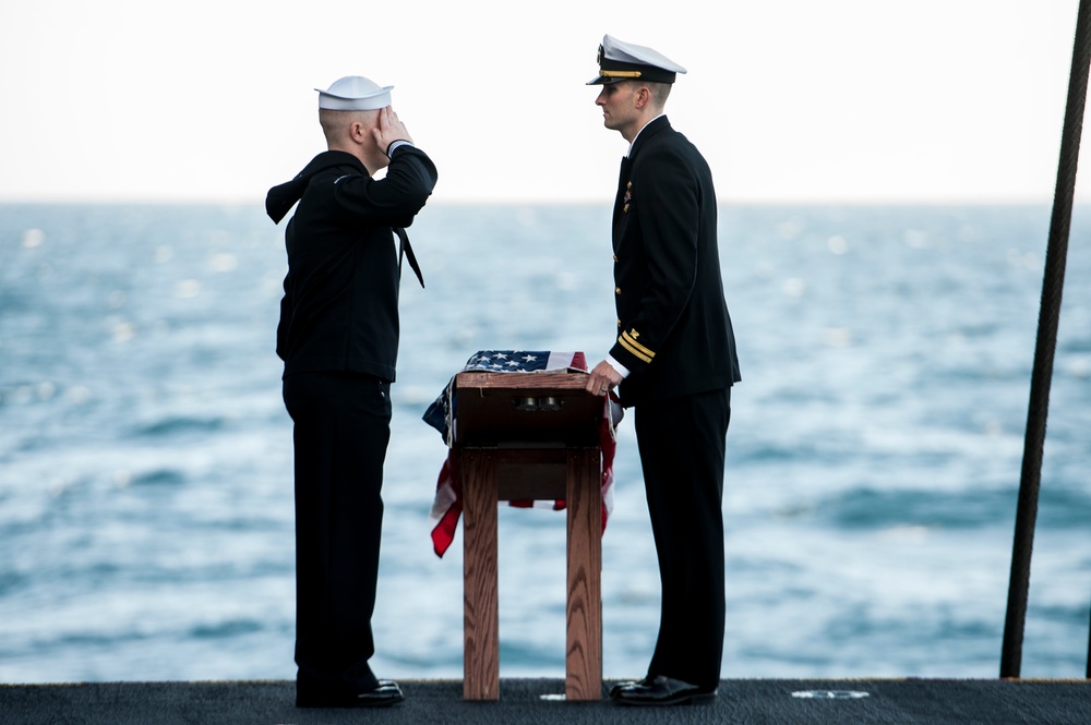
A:
[[[723,676],[995,677],[1046,206],[724,206],[743,382]],[[461,536],[420,416],[480,349],[614,329],[609,209],[430,206],[403,285],[374,617],[384,677],[461,677]],[[253,206],[0,206],[0,681],[291,678],[283,229]],[[1082,677],[1091,208],[1072,221],[1023,648]],[[659,581],[622,423],[603,670],[644,674]],[[564,673],[564,515],[501,510],[501,674]]]

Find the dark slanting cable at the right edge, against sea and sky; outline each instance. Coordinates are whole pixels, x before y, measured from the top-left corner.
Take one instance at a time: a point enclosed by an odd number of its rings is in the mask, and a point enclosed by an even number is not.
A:
[[[1050,240],[1045,253],[1045,276],[1042,282],[1042,305],[1039,311],[1038,342],[1034,349],[1027,435],[1023,442],[1022,474],[1019,482],[1019,503],[1011,553],[1011,578],[1008,585],[1008,611],[1000,654],[1000,677],[1019,677],[1022,665],[1023,626],[1027,620],[1027,594],[1030,589],[1030,558],[1042,482],[1045,421],[1050,408],[1053,359],[1057,347],[1060,294],[1065,286],[1065,261],[1068,254],[1068,232],[1072,218],[1072,196],[1076,190],[1076,166],[1079,160],[1080,134],[1083,128],[1083,108],[1087,102],[1089,63],[1091,63],[1091,0],[1080,0],[1072,67],[1068,80],[1065,125],[1060,140],[1060,159],[1057,165],[1057,185],[1054,191]],[[1088,676],[1091,677],[1091,640],[1089,640],[1088,656]]]

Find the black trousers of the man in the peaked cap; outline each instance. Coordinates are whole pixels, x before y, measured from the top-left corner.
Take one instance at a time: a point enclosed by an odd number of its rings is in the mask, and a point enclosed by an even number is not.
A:
[[[648,667],[715,688],[723,655],[723,462],[731,388],[635,407],[662,613]]]

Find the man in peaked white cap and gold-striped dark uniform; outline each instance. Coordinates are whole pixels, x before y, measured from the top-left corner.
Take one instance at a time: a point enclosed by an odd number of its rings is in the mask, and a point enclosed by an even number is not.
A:
[[[613,208],[618,337],[587,389],[615,386],[635,411],[662,609],[647,675],[614,686],[622,704],[716,697],[723,652],[723,463],[739,382],[716,239],[716,191],[663,105],[685,69],[609,35],[596,104],[630,143]]]

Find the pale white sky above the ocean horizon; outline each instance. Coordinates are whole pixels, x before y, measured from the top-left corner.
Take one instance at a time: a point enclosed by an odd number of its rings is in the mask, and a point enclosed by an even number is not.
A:
[[[433,202],[606,202],[609,33],[688,69],[667,111],[721,203],[1048,202],[1077,5],[0,0],[0,201],[262,200],[323,149],[313,88],[365,75]]]

